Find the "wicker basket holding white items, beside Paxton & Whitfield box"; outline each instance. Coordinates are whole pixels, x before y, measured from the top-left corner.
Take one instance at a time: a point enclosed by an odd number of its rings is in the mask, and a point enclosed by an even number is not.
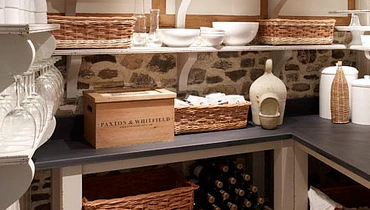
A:
[[[175,108],[175,134],[245,128],[251,103]]]

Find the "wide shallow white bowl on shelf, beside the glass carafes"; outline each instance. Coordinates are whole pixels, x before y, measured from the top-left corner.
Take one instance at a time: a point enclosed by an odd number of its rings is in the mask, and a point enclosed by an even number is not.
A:
[[[199,36],[199,29],[159,29],[162,42],[168,47],[189,47]]]

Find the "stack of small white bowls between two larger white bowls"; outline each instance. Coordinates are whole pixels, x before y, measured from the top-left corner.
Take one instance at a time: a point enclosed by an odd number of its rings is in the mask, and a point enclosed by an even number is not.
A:
[[[210,27],[200,27],[202,46],[219,47],[225,39],[225,31]]]

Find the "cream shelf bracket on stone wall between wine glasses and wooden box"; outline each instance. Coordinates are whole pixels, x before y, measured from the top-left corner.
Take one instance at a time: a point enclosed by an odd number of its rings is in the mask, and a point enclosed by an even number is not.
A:
[[[77,79],[82,63],[81,55],[67,56],[67,100],[77,98]]]

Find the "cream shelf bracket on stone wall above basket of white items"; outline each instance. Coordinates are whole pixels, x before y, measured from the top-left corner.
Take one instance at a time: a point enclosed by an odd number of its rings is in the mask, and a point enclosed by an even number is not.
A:
[[[177,91],[186,91],[188,85],[189,72],[195,61],[197,60],[197,53],[179,53],[177,55]]]

